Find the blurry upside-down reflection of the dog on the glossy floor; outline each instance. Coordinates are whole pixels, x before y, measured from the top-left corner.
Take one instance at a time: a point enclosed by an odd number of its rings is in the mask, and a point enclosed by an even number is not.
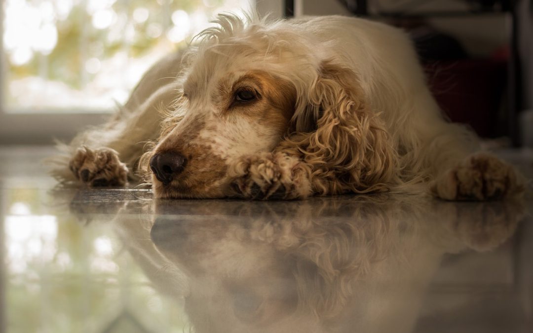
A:
[[[196,332],[372,333],[411,331],[440,257],[495,248],[523,208],[372,196],[155,210],[156,248],[151,221],[119,230],[156,287],[185,296]]]

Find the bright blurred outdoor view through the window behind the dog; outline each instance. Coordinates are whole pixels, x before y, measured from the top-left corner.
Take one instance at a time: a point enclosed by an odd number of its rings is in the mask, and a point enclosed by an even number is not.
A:
[[[101,112],[216,13],[249,0],[4,0],[3,109]]]

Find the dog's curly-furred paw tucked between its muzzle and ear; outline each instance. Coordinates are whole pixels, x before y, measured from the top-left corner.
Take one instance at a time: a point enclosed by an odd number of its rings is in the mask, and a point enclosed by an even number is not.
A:
[[[310,196],[310,184],[300,160],[284,153],[243,158],[232,168],[233,194],[247,199],[296,199]]]

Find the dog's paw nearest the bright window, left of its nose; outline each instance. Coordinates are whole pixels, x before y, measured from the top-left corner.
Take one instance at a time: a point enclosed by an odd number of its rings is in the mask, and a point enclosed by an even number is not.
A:
[[[127,182],[128,168],[110,148],[80,147],[69,168],[79,181],[89,186],[123,186]]]

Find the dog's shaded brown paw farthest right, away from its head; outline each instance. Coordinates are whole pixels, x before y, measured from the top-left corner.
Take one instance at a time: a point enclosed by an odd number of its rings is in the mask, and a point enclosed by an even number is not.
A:
[[[502,199],[522,189],[512,166],[484,153],[467,157],[430,184],[432,194],[446,200]]]

